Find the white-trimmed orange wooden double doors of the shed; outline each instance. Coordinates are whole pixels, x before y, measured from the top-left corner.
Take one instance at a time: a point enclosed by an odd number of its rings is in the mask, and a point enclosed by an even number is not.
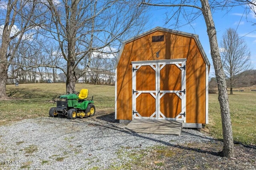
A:
[[[145,62],[132,62],[133,118],[186,122],[186,60]]]

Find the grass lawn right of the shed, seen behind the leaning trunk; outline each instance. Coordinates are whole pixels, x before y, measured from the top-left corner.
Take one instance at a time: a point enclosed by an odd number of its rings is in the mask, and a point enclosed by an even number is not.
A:
[[[256,92],[233,92],[229,95],[234,142],[256,144]],[[218,94],[209,94],[209,133],[222,137],[222,122]]]

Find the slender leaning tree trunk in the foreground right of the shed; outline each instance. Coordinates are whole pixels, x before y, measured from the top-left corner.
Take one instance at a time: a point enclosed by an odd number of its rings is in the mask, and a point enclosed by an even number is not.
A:
[[[234,154],[233,133],[230,118],[230,108],[228,102],[228,92],[226,88],[226,79],[222,63],[220,59],[220,51],[218,47],[218,41],[216,36],[216,29],[214,27],[214,21],[212,19],[212,13],[208,0],[201,0],[202,13],[206,22],[207,33],[210,41],[211,56],[216,74],[216,80],[218,82],[218,100],[220,102],[220,112],[222,118],[222,132],[223,132],[223,156],[231,158]]]

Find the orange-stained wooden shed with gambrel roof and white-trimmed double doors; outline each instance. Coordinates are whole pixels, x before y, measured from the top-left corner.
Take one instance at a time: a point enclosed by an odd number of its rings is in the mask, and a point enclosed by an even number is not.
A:
[[[116,61],[115,119],[208,123],[208,61],[198,35],[156,27],[122,45]]]

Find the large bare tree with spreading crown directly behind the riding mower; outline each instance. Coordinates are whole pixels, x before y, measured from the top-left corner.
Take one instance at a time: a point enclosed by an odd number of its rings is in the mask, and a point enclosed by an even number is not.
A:
[[[43,27],[60,46],[66,61],[66,92],[75,91],[75,68],[87,57],[84,72],[88,71],[92,53],[105,51],[104,47],[120,47],[124,33],[140,32],[144,8],[133,0],[48,0],[50,23]]]

